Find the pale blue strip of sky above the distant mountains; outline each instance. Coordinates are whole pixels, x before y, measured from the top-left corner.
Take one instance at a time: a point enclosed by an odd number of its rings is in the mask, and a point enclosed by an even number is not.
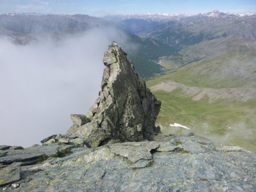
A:
[[[0,14],[39,12],[43,14],[198,14],[212,10],[222,12],[256,12],[255,0],[0,0]]]

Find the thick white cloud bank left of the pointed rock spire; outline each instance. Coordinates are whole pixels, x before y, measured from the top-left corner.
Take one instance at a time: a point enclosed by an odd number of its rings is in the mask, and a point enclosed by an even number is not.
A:
[[[113,40],[129,45],[106,28],[28,45],[0,39],[0,145],[28,147],[67,132],[70,114],[86,114],[96,100]]]

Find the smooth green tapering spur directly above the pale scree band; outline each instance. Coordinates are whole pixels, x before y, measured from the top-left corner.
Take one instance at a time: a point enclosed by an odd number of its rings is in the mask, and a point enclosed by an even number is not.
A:
[[[169,73],[150,84],[173,80],[185,85],[211,88],[256,87],[254,53],[234,51],[214,59],[197,61]]]

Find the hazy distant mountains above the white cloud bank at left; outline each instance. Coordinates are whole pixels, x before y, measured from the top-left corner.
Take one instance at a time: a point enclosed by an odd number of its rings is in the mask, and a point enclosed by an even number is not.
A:
[[[64,33],[104,27],[103,19],[89,15],[51,15],[9,13],[0,15],[0,28],[20,34]]]

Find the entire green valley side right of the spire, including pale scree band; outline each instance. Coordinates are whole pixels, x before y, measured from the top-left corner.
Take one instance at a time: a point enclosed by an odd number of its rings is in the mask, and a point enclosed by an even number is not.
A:
[[[164,103],[157,120],[163,133],[196,132],[255,151],[255,48],[255,41],[229,36],[160,59],[166,74],[147,86]],[[174,122],[191,130],[170,127]]]

